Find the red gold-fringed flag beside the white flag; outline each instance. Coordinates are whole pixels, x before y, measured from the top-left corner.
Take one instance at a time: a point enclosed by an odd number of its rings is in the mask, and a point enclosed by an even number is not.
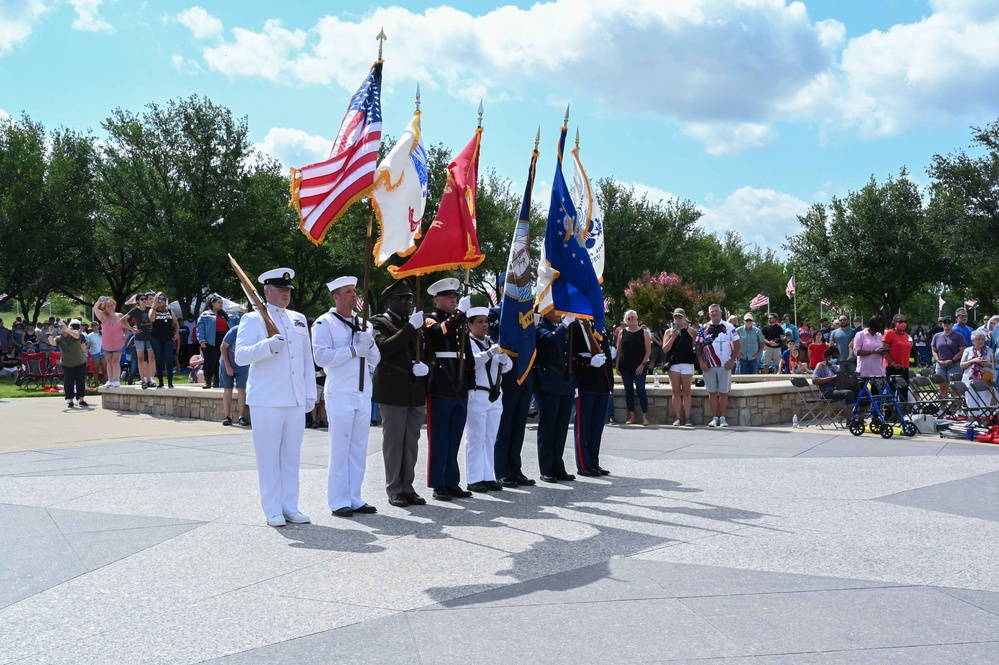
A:
[[[481,140],[482,128],[479,127],[468,145],[448,164],[441,207],[423,242],[405,264],[389,266],[389,272],[396,279],[454,268],[474,268],[485,260],[475,230]]]

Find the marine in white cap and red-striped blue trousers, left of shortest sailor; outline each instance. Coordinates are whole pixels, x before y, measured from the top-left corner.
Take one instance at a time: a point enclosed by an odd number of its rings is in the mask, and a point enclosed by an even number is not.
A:
[[[468,417],[468,390],[475,385],[471,343],[461,334],[471,300],[468,296],[458,299],[459,286],[454,278],[430,285],[427,293],[434,298],[434,312],[426,317],[423,327],[426,346],[434,355],[427,385],[427,486],[438,501],[472,496],[461,489],[458,469],[458,448]],[[462,366],[463,372],[459,372]]]

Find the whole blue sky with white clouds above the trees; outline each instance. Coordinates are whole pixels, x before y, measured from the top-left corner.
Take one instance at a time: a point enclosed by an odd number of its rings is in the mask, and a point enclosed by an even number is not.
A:
[[[205,95],[302,166],[328,153],[382,26],[387,133],[419,81],[425,140],[460,149],[483,98],[483,169],[521,183],[541,126],[543,202],[570,102],[591,178],[778,250],[811,203],[902,166],[925,184],[934,153],[999,117],[995,0],[0,0],[0,114],[100,137],[115,107]]]

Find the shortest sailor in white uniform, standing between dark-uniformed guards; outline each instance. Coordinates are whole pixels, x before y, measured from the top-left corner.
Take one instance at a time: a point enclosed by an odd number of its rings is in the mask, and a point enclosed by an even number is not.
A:
[[[493,445],[503,415],[500,374],[509,371],[513,361],[486,334],[489,330],[488,308],[472,307],[466,316],[472,355],[475,357],[475,388],[468,393],[465,476],[470,492],[499,491],[503,486],[495,477]]]

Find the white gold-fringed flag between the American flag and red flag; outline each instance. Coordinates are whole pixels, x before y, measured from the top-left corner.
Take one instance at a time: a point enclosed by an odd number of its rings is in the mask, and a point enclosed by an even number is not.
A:
[[[375,265],[393,254],[409,256],[416,251],[420,223],[427,207],[427,151],[420,134],[420,112],[413,114],[406,131],[378,165],[372,205],[381,235],[375,244]]]

